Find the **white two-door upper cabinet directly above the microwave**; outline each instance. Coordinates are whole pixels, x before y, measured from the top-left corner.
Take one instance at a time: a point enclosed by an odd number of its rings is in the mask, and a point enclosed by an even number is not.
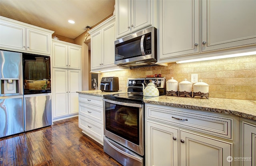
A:
[[[116,0],[116,37],[152,24],[152,0]]]

